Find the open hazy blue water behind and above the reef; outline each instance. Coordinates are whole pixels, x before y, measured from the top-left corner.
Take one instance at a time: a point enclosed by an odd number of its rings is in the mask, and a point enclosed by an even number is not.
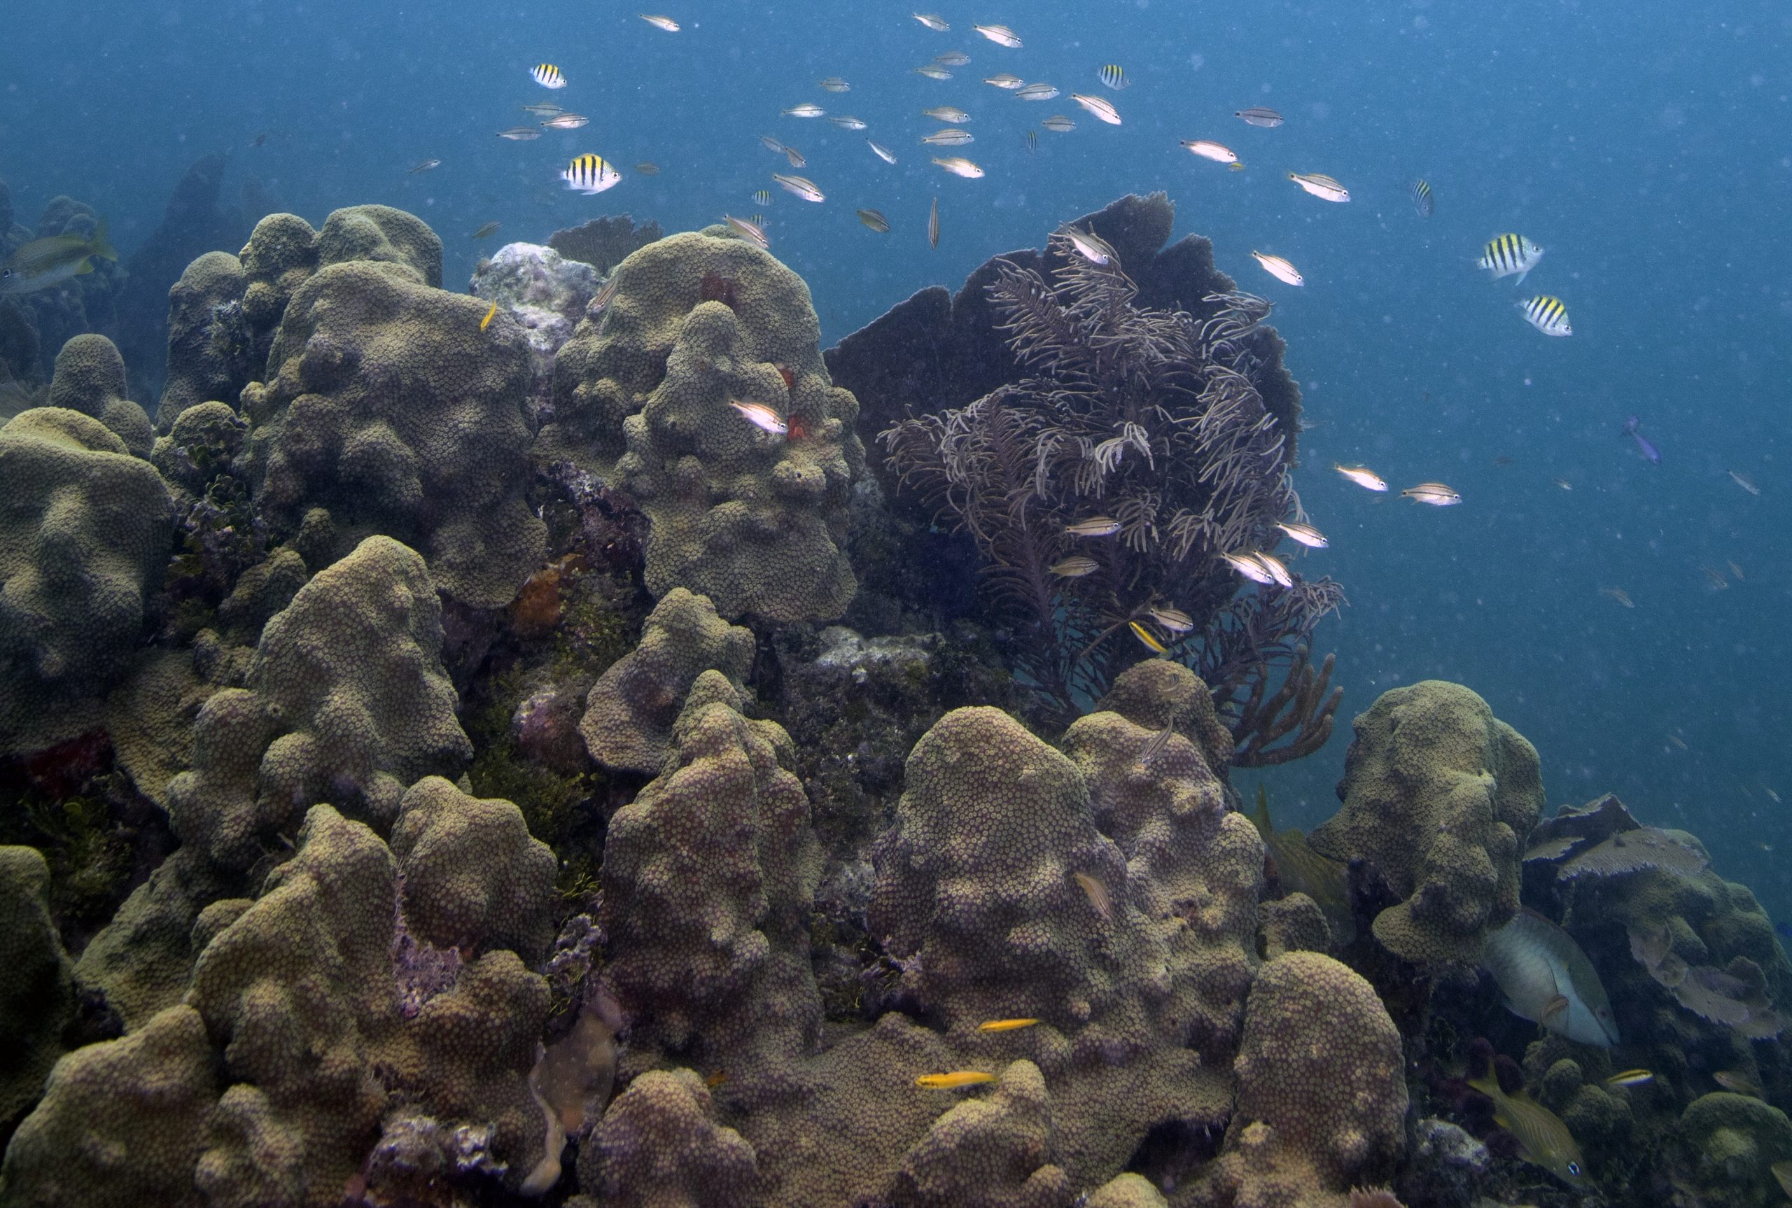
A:
[[[1539,747],[1552,803],[1615,790],[1645,821],[1699,833],[1720,873],[1792,918],[1774,851],[1792,844],[1792,801],[1770,796],[1792,798],[1785,7],[939,11],[952,32],[882,2],[681,4],[670,14],[683,32],[665,34],[584,4],[20,4],[0,39],[0,177],[25,222],[56,194],[93,204],[129,256],[186,165],[231,151],[228,197],[254,174],[312,222],[355,203],[421,215],[448,244],[450,287],[480,255],[468,233],[486,220],[504,222],[487,251],[615,211],[674,231],[753,213],[751,192],[771,188],[772,251],[808,280],[828,342],[1063,219],[1168,190],[1177,233],[1213,238],[1220,267],[1278,303],[1312,423],[1297,482],[1331,538],[1301,570],[1330,572],[1351,599],[1317,636],[1339,654],[1344,715],[1414,679],[1468,683]],[[995,47],[973,22],[1011,23],[1025,47]],[[955,79],[912,73],[948,48],[973,59]],[[539,61],[570,86],[532,84]],[[1109,61],[1131,77],[1125,91],[1097,82]],[[1064,95],[1021,102],[980,82],[993,72]],[[821,91],[824,75],[853,90]],[[1095,122],[1072,91],[1109,97],[1124,125]],[[591,125],[495,138],[536,100]],[[803,100],[871,129],[780,116]],[[977,142],[943,154],[977,160],[986,179],[928,163],[918,138],[937,125],[919,116],[930,104],[975,115]],[[1249,104],[1287,125],[1245,127],[1231,113]],[[1077,129],[1039,131],[1029,154],[1023,131],[1050,113]],[[772,185],[788,168],[760,145],[767,133],[808,156],[824,204]],[[878,161],[867,134],[900,163]],[[1195,160],[1181,138],[1226,142],[1247,170]],[[620,165],[624,183],[590,199],[559,188],[582,151]],[[443,165],[409,176],[425,158]],[[634,174],[642,160],[661,174]],[[1287,170],[1328,172],[1353,201],[1306,197]],[[1435,188],[1428,220],[1407,197],[1417,176]],[[857,206],[882,210],[892,233],[864,229]],[[1509,229],[1546,247],[1523,287],[1473,269],[1480,244]],[[1294,260],[1306,287],[1263,276],[1253,247]],[[1566,301],[1572,339],[1520,319],[1512,303],[1532,292]],[[1631,414],[1661,464],[1620,436]],[[1441,479],[1464,504],[1373,496],[1333,461],[1367,462],[1394,491]],[[1701,566],[1729,586],[1713,590]],[[1269,776],[1283,821],[1330,814],[1344,729]]]

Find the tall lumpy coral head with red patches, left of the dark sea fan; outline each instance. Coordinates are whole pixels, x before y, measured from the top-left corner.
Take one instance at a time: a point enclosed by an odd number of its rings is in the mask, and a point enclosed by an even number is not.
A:
[[[857,400],[821,362],[808,287],[708,233],[649,244],[613,283],[556,358],[538,459],[588,464],[640,502],[654,595],[685,586],[722,617],[839,617],[857,590],[842,541],[864,446]],[[788,436],[735,401],[769,407]]]

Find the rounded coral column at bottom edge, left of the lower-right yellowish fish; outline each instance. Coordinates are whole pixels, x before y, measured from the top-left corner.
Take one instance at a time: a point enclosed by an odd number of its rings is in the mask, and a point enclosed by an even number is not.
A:
[[[1317,952],[1263,964],[1238,1048],[1238,1106],[1213,1183],[1240,1208],[1344,1203],[1405,1149],[1400,1031],[1374,989]]]

